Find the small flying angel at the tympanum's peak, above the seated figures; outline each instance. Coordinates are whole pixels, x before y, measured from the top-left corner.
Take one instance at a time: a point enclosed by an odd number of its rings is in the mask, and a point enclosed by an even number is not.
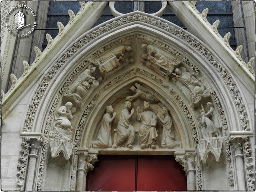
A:
[[[147,102],[150,102],[151,104],[159,102],[159,100],[158,100],[158,98],[156,98],[156,96],[149,93],[148,90],[146,90],[140,84],[136,83],[135,86],[137,88],[135,88],[134,86],[132,86],[130,88],[130,90],[132,92],[135,92],[135,95],[126,97],[126,100],[140,98],[141,100],[145,100]]]

